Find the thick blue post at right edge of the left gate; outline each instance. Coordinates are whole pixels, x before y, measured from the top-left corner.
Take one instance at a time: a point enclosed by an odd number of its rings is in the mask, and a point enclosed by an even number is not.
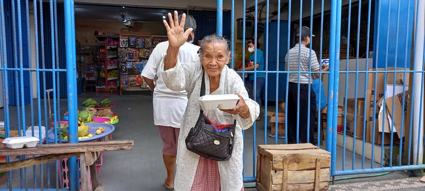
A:
[[[77,91],[76,91],[76,50],[75,50],[75,28],[74,28],[74,0],[65,0],[65,51],[66,51],[66,84],[68,97],[68,141],[78,143],[77,137]],[[71,75],[73,74],[73,75]],[[77,157],[70,157],[70,190],[79,188],[79,168]]]

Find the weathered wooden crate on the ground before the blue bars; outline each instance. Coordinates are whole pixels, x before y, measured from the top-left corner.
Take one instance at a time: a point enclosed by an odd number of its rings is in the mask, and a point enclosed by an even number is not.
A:
[[[331,153],[311,143],[258,145],[258,191],[318,191],[329,187]]]

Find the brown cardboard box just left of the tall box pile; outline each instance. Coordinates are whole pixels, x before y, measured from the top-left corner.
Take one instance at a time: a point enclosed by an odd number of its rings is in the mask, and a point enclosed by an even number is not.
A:
[[[357,102],[357,110],[356,108]],[[347,98],[347,121],[346,130],[348,135],[352,135],[355,138],[363,138],[363,125],[364,125],[364,106],[365,98]],[[355,113],[357,111],[357,113]],[[356,121],[356,134],[354,135],[354,121]]]

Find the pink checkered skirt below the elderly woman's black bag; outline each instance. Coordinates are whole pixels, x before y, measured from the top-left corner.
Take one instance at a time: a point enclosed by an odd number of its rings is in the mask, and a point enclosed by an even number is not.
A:
[[[220,189],[217,161],[199,157],[191,191],[220,191]],[[243,186],[241,191],[245,191]]]

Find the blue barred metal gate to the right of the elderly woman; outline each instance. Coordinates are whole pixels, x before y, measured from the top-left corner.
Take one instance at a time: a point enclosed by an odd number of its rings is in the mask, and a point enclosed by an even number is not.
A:
[[[327,98],[323,98],[319,93],[319,95],[316,95],[316,99],[318,103],[321,103],[322,99],[326,99],[327,114],[322,115],[322,111],[318,110],[317,121],[319,123],[317,124],[318,138],[316,143],[320,146],[320,131],[321,125],[323,125],[321,123],[321,117],[326,116],[326,150],[331,152],[330,176],[425,169],[425,165],[422,164],[422,92],[424,81],[423,71],[425,66],[423,57],[424,29],[423,26],[420,24],[418,25],[418,23],[424,22],[424,12],[419,11],[423,10],[424,2],[419,2],[419,0],[349,0],[343,4],[342,0],[321,0],[314,2],[313,0],[304,0],[304,2],[303,0],[289,0],[285,3],[281,3],[281,1],[278,0],[276,5],[271,4],[269,0],[255,0],[252,7],[249,8],[251,13],[247,11],[248,7],[246,0],[241,2],[243,6],[241,6],[241,3],[238,1],[236,1],[236,3],[238,5],[235,5],[235,0],[231,0],[232,51],[235,51],[235,47],[238,43],[242,44],[242,52],[240,52],[242,54],[242,71],[238,73],[241,73],[242,76],[245,74],[252,74],[254,76],[251,82],[253,84],[252,90],[254,99],[256,99],[257,75],[259,73],[266,74],[265,84],[262,90],[264,91],[263,100],[265,103],[264,129],[257,129],[256,127],[261,124],[254,124],[252,132],[252,159],[244,157],[245,161],[252,160],[253,169],[252,173],[247,173],[247,168],[245,168],[244,182],[255,182],[256,180],[255,148],[258,144],[256,140],[258,136],[256,136],[256,133],[260,132],[261,137],[262,133],[264,135],[264,140],[261,140],[260,144],[270,143],[270,140],[268,142],[270,138],[268,138],[267,135],[270,130],[267,128],[267,111],[271,111],[267,106],[268,100],[275,101],[274,112],[276,115],[279,112],[279,100],[284,101],[284,111],[288,111],[289,74],[291,73],[298,75],[298,84],[300,83],[299,76],[302,73],[308,73],[309,75],[319,73],[320,79],[325,77],[323,84],[327,87],[325,89],[327,89],[328,96]],[[307,7],[305,7],[306,5]],[[243,37],[241,40],[238,40],[235,39],[235,9],[238,10],[241,9],[241,7],[242,13],[236,17],[243,18],[243,24],[241,25],[242,29],[237,28],[236,31],[242,30]],[[320,10],[317,9],[317,7],[320,7]],[[220,22],[222,19],[222,8],[223,1],[218,0],[217,34],[222,33]],[[261,12],[263,12],[263,8],[265,8],[265,17],[259,17]],[[277,11],[272,12],[273,10]],[[246,38],[250,38],[246,34],[248,14],[253,17],[255,22],[253,36],[255,41],[253,43],[255,46],[253,52],[254,63],[259,63],[256,51],[259,48],[257,47],[257,42],[260,40],[258,38],[259,24],[264,28],[264,70],[257,70],[256,67],[254,67],[252,71],[245,70],[245,63],[247,60],[245,57]],[[282,17],[281,14],[284,16]],[[275,22],[274,20],[279,22]],[[280,22],[285,20],[287,22]],[[271,23],[277,25],[277,28],[274,28],[273,31],[270,31]],[[282,26],[281,23],[287,23],[287,26]],[[294,42],[295,32],[299,31],[301,33],[300,26],[308,26],[310,29],[311,43],[309,46],[310,55],[308,61],[310,69],[309,71],[301,71],[300,69],[297,71],[282,70],[280,65],[283,64],[287,66],[287,60],[285,60],[286,52],[293,47],[291,44]],[[287,31],[282,31],[280,29],[281,27],[287,27]],[[282,41],[281,34],[283,32],[285,33],[284,35],[287,36],[287,39],[286,36],[283,35],[285,39]],[[311,35],[312,33],[316,34],[316,37],[313,37]],[[297,40],[295,43],[300,42],[301,40]],[[270,46],[271,44],[273,46]],[[282,49],[285,51],[280,51]],[[319,63],[322,63],[323,59],[329,59],[329,71],[322,71],[321,68],[319,71],[311,71],[312,54],[314,54],[313,49],[318,51],[317,58]],[[271,54],[271,52],[274,53]],[[282,53],[284,54],[282,55]],[[410,56],[411,54],[412,59]],[[301,51],[299,49],[298,65],[301,63],[300,55]],[[232,68],[236,67],[234,57],[236,56],[233,56],[231,60]],[[273,69],[270,70],[270,68]],[[391,78],[391,76],[393,77]],[[410,79],[412,79],[411,81],[409,81],[409,76]],[[282,77],[286,78],[283,84],[280,83],[280,78]],[[387,81],[389,79],[391,79],[391,81]],[[272,80],[272,82],[270,82],[270,80]],[[311,96],[311,82],[312,81],[309,80],[309,98]],[[273,90],[273,93],[275,92],[273,95],[268,94],[268,84],[270,83],[273,88],[276,89],[275,91]],[[276,84],[276,86],[274,86],[274,84]],[[319,81],[319,92],[322,91],[321,88],[323,84],[322,81]],[[410,84],[410,86],[408,84]],[[369,88],[369,86],[371,87]],[[380,92],[381,87],[383,87],[383,91]],[[340,89],[341,91],[339,91]],[[286,92],[282,90],[286,90]],[[368,92],[368,90],[370,90],[370,92]],[[298,91],[300,91],[300,85],[298,85]],[[384,118],[383,122],[379,122],[379,107],[381,104],[379,101],[382,97],[385,97],[382,99],[381,103],[386,109],[381,112]],[[350,104],[352,100],[350,98],[354,99],[354,106],[352,106],[354,111],[347,111],[347,104]],[[363,103],[363,105],[358,104],[358,98],[364,99],[363,102],[359,102]],[[397,103],[400,105],[398,106]],[[399,109],[396,105],[404,109]],[[307,137],[309,137],[309,131],[316,129],[316,127],[310,128],[310,123],[307,123],[307,132],[300,131],[300,110],[308,110],[308,115],[310,115],[310,107],[300,108],[299,96],[297,106],[296,129],[297,143],[299,143],[298,136],[301,133],[306,133]],[[338,106],[342,106],[344,109],[341,111],[338,109]],[[407,111],[406,108],[409,108],[409,111]],[[405,112],[401,112],[402,110],[405,110]],[[351,114],[353,114],[352,112],[354,112],[354,119],[351,119],[351,122],[349,122],[347,117],[351,117]],[[385,112],[387,113],[385,114]],[[401,123],[398,123],[399,121],[395,122],[398,120],[398,113],[401,113]],[[388,115],[387,118],[390,119],[391,116],[394,116],[393,120],[385,123],[386,120],[389,120],[385,118],[385,115]],[[278,124],[278,118],[276,117],[275,119],[275,124]],[[403,121],[408,121],[408,123]],[[389,132],[386,132],[385,125],[392,127]],[[342,127],[341,130],[338,130],[338,126]],[[285,118],[285,127],[288,127],[287,118]],[[382,130],[379,128],[382,128]],[[393,129],[398,130],[398,134],[395,133]],[[274,144],[288,143],[286,139],[288,138],[287,131],[285,131],[284,135],[278,135],[278,125],[276,125],[274,132],[275,135],[271,135],[274,137]],[[403,134],[403,132],[405,132],[405,134]],[[351,134],[351,136],[349,134]],[[357,138],[356,134],[358,134]],[[351,137],[351,139],[349,137]],[[244,138],[246,139],[246,132],[244,133]],[[307,138],[307,140],[309,139]],[[247,142],[245,141],[245,143]],[[398,146],[398,149],[394,149],[395,145]],[[351,150],[348,150],[349,147]],[[379,149],[380,155],[376,154],[375,148]],[[389,153],[388,158],[384,157],[384,150],[385,153]],[[245,151],[244,154],[248,153]],[[348,155],[352,157],[352,160],[346,161]],[[377,156],[379,156],[380,160],[375,158]],[[398,160],[394,160],[395,158]],[[397,163],[393,163],[393,160],[397,161]],[[351,165],[349,165],[349,163]],[[246,162],[244,162],[244,164],[246,165]]]

